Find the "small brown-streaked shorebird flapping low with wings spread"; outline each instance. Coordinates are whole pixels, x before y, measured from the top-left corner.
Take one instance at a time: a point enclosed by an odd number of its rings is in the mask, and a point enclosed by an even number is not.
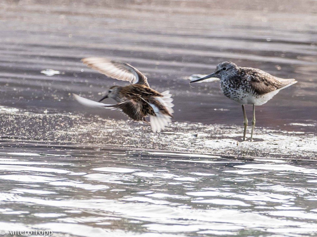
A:
[[[87,106],[119,109],[135,121],[149,123],[153,132],[160,132],[171,122],[174,105],[170,91],[159,93],[153,90],[150,88],[146,76],[125,62],[107,58],[83,58],[81,61],[108,77],[132,82],[132,84],[110,87],[108,94],[99,102],[73,94],[79,103]],[[118,104],[100,103],[106,98],[112,98]],[[150,122],[145,120],[147,116],[150,117]]]

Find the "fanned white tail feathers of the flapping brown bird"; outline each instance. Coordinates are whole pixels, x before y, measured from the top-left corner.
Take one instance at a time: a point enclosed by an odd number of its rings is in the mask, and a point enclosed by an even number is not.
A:
[[[158,100],[165,107],[168,113],[166,112],[166,110],[160,109],[155,104],[149,103],[155,112],[155,116],[150,115],[150,124],[153,132],[160,132],[161,130],[164,130],[165,127],[168,126],[169,123],[171,123],[171,113],[174,112],[174,110],[172,109],[174,104],[171,103],[173,99],[171,98],[172,95],[170,94],[170,91],[167,90],[161,94],[163,95],[162,97],[155,97],[155,99]]]

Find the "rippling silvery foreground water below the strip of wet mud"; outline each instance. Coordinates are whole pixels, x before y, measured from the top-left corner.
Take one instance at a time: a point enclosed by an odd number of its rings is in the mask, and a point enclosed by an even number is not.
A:
[[[59,147],[37,156],[4,149],[16,154],[12,160],[5,150],[0,154],[6,162],[0,216],[8,228],[20,228],[16,221],[57,236],[79,230],[82,236],[286,230],[306,236],[317,230],[312,161],[89,147]],[[71,162],[59,162],[64,154]]]

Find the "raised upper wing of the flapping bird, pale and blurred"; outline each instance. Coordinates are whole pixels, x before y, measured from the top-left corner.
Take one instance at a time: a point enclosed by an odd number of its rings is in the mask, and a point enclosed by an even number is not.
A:
[[[106,76],[149,87],[146,76],[126,62],[97,57],[83,58],[81,61]]]

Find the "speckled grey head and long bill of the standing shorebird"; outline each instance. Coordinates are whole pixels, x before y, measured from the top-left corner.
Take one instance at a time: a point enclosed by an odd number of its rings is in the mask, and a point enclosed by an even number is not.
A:
[[[199,82],[211,77],[216,77],[220,80],[227,79],[231,76],[235,76],[238,73],[238,70],[239,68],[236,64],[231,62],[222,62],[217,65],[215,72],[191,82]]]

